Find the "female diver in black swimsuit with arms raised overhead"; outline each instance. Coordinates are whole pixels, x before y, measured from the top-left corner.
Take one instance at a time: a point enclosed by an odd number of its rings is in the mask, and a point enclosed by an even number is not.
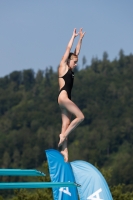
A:
[[[79,35],[79,41],[74,53],[70,52],[74,39]],[[67,149],[67,137],[68,135],[84,120],[84,115],[74,102],[71,101],[71,90],[73,87],[74,72],[78,62],[78,55],[80,52],[82,39],[85,32],[82,32],[82,28],[79,33],[76,33],[74,29],[72,37],[67,45],[66,52],[62,57],[58,68],[58,80],[59,80],[59,95],[58,104],[61,109],[62,128],[59,135],[60,141],[58,147],[62,146],[61,154],[64,156],[65,162],[68,162],[68,149]],[[75,116],[75,119],[71,121],[71,115]]]

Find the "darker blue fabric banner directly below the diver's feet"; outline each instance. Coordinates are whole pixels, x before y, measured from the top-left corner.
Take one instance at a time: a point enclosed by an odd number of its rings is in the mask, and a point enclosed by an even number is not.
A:
[[[49,172],[52,182],[75,182],[70,163],[64,162],[64,157],[59,151],[46,150]],[[53,188],[54,200],[78,200],[76,187]]]

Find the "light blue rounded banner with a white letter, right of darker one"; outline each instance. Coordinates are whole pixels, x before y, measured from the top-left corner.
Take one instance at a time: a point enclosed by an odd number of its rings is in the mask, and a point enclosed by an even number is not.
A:
[[[80,200],[113,200],[109,187],[100,173],[92,164],[85,161],[71,162],[77,183]]]

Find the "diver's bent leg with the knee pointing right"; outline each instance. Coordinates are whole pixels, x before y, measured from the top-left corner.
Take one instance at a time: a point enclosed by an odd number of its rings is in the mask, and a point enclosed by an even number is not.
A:
[[[84,120],[84,115],[80,109],[70,99],[65,99],[60,103],[60,107],[64,107],[69,113],[72,113],[76,118],[70,123],[67,129],[60,134],[60,141],[58,146],[60,147],[67,136]]]

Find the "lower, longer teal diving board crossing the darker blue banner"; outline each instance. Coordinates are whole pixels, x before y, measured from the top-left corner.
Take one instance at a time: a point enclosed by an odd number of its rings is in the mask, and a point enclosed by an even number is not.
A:
[[[53,187],[79,187],[74,182],[17,182],[0,183],[0,189],[33,189],[33,188],[53,188]]]

